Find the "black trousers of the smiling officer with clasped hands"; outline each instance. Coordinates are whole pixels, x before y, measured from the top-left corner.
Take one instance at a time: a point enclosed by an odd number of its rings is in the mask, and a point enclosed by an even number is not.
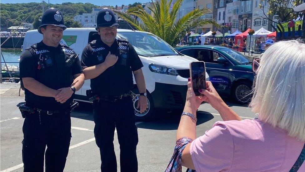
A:
[[[44,155],[46,172],[63,171],[71,140],[70,113],[26,115],[22,131],[24,172],[43,172]]]

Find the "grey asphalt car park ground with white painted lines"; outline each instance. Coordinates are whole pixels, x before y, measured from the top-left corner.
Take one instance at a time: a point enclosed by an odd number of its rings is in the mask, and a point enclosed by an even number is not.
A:
[[[24,96],[18,96],[19,87],[5,87],[1,84],[0,96],[0,172],[23,171],[22,164],[22,124],[24,119],[17,104],[24,102]],[[255,114],[244,105],[226,100],[227,104],[242,119],[253,119]],[[137,121],[139,143],[137,147],[138,171],[164,171],[173,154],[176,132],[180,120],[177,112],[158,112],[149,121]],[[199,107],[197,112],[197,137],[203,135],[217,121],[220,115],[209,104]],[[64,171],[93,172],[100,171],[100,154],[95,144],[93,128],[93,110],[90,104],[80,103],[71,113],[72,138]],[[119,164],[119,144],[114,136],[114,147]],[[186,169],[183,169],[185,171]],[[118,171],[120,167],[118,165]]]

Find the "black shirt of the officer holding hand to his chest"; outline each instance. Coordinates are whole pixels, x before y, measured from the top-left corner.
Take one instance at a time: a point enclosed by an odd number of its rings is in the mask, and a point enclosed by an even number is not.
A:
[[[118,40],[116,39],[111,47],[109,47],[107,44],[103,43],[101,39],[96,40],[95,47],[103,47],[105,49],[100,51],[100,55],[93,52],[91,44],[88,44],[83,50],[81,58],[83,68],[103,63],[109,51],[111,54],[118,56],[118,61],[113,66],[109,67],[98,77],[90,80],[92,91],[101,96],[119,96],[128,93],[128,91],[133,88],[132,71],[136,71],[143,67],[142,61],[131,44],[128,44],[127,65],[121,65],[120,61],[122,56],[120,55],[117,41]]]

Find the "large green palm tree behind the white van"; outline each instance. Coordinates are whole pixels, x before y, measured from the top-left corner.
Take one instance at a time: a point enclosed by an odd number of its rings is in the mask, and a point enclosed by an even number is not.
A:
[[[194,9],[175,22],[183,0],[177,0],[170,10],[172,1],[156,0],[153,2],[153,8],[148,7],[153,15],[148,14],[141,5],[129,8],[127,13],[118,10],[114,10],[114,12],[139,31],[155,34],[172,46],[176,46],[187,32],[197,26],[213,24],[220,27],[213,19],[201,17],[210,12],[208,8]],[[143,24],[139,23],[134,16],[140,18]]]

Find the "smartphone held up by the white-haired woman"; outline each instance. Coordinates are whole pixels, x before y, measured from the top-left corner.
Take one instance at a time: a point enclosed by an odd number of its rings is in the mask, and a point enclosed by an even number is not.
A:
[[[205,64],[203,61],[190,63],[190,76],[193,82],[193,90],[196,96],[202,96],[199,89],[206,89],[205,85]]]

